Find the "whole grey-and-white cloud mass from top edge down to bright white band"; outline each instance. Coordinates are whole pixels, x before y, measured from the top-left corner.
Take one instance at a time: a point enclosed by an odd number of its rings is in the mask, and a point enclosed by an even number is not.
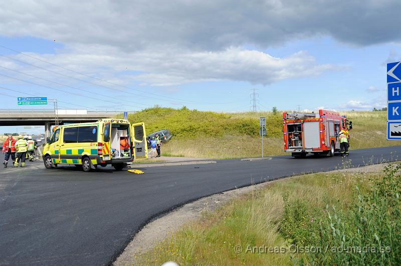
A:
[[[318,63],[306,51],[274,57],[247,45],[259,49],[311,36],[356,45],[399,41],[393,17],[400,9],[401,1],[391,0],[15,0],[0,9],[0,34],[55,39],[65,48],[32,54],[122,85],[270,84],[341,67]],[[82,85],[23,64],[14,69]]]

